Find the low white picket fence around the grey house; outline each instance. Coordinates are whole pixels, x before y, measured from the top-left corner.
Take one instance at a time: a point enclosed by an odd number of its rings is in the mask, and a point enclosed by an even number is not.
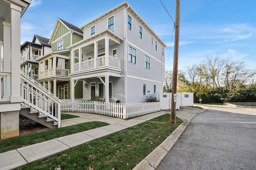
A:
[[[161,110],[160,102],[116,104],[111,102],[62,99],[61,111],[95,113],[122,119],[146,115]]]

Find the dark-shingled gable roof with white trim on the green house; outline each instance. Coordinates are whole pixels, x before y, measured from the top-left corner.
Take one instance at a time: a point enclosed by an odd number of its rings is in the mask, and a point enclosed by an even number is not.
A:
[[[54,36],[55,36],[55,34],[56,34],[57,30],[58,30],[58,27],[59,27],[60,23],[62,23],[68,29],[68,31],[74,31],[75,33],[83,35],[82,29],[80,29],[76,25],[73,25],[71,23],[68,23],[67,21],[64,21],[64,20],[58,18],[57,22],[56,22],[56,24],[54,26],[54,29],[52,31],[52,35],[51,35],[51,37],[49,39],[49,44],[52,44],[52,41],[53,41]]]

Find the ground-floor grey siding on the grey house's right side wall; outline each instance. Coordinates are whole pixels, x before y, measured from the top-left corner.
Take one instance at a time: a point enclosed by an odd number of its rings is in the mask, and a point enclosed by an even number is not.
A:
[[[146,84],[145,96],[143,95],[143,83]],[[127,77],[127,103],[145,102],[146,97],[153,95],[154,85],[156,85],[156,93],[162,92],[162,82]]]

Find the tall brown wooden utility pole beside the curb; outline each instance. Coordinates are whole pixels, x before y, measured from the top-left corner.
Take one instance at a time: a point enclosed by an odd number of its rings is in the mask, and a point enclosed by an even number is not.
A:
[[[173,94],[177,93],[177,78],[178,78],[178,54],[179,54],[179,37],[180,37],[180,0],[176,0],[176,18],[175,18],[175,38],[174,38],[174,58],[172,72],[172,110],[171,123],[176,124],[175,106]]]

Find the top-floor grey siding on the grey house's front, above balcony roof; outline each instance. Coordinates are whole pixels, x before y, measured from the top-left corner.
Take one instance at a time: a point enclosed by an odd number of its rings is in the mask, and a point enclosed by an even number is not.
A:
[[[124,8],[120,8],[115,12],[108,14],[100,20],[88,25],[84,28],[84,39],[91,36],[91,27],[95,25],[95,34],[108,29],[108,18],[114,16],[114,33],[120,37],[124,37]]]

